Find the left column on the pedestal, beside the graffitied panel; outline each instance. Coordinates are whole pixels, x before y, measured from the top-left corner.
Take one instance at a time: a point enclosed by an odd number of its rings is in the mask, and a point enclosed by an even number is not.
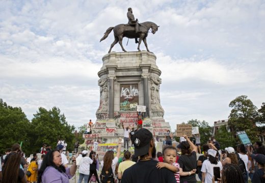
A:
[[[117,66],[107,66],[106,67],[109,71],[109,118],[114,118],[114,81],[116,79],[115,76],[115,70],[117,69]]]

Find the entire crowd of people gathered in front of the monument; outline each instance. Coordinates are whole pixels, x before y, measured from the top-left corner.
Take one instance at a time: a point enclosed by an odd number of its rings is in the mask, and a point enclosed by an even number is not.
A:
[[[126,132],[125,132],[126,131]],[[129,129],[124,132],[130,134]],[[131,132],[131,131],[130,131]],[[166,137],[172,138],[170,133]],[[195,137],[198,135],[195,135]],[[26,162],[19,144],[6,149],[1,157],[0,182],[69,182],[79,167],[78,183],[84,182],[197,182],[196,174],[203,183],[265,182],[265,147],[260,142],[253,146],[244,144],[237,147],[220,149],[215,139],[209,139],[202,145],[203,155],[197,159],[200,142],[196,143],[184,135],[175,147],[170,140],[161,152],[156,152],[155,139],[152,133],[141,128],[129,135],[134,146],[133,154],[128,148],[128,137],[121,153],[122,139],[118,140],[116,153],[105,152],[100,162],[95,151],[83,150],[73,157],[68,167],[64,154],[64,145],[58,141],[55,149],[41,148],[43,154],[38,160],[36,154],[29,163]],[[126,148],[127,146],[127,148]],[[123,155],[123,156],[121,156]],[[101,169],[101,171],[99,171]],[[98,171],[100,174],[98,174]]]

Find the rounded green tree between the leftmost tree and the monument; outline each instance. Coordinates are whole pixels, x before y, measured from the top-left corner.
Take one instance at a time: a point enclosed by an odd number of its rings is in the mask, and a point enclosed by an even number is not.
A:
[[[63,139],[67,143],[67,149],[73,149],[74,126],[70,126],[64,114],[57,107],[46,110],[39,108],[32,119],[31,144],[32,150],[38,152],[43,143],[47,143],[51,148],[55,148],[58,139]]]

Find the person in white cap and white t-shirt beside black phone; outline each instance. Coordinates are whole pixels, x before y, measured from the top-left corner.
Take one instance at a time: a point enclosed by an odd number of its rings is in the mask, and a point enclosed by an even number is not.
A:
[[[222,163],[216,159],[216,150],[209,149],[207,151],[207,154],[209,156],[209,159],[205,160],[201,167],[202,183],[213,182],[214,175],[215,182],[217,182],[217,178],[221,177],[221,170],[223,169]]]

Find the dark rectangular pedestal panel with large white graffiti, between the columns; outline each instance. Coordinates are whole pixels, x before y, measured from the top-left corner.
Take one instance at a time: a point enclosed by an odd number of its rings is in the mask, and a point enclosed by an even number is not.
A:
[[[138,84],[120,85],[120,111],[136,111],[138,101]]]

